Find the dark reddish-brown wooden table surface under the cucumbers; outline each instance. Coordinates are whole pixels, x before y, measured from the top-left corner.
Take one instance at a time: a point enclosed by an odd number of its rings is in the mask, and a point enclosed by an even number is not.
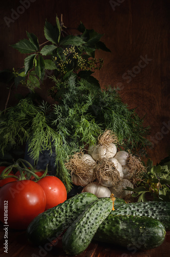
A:
[[[8,253],[4,252],[5,244],[4,225],[0,224],[0,256],[9,257],[54,257],[70,256],[65,254],[62,249],[62,241],[59,238],[55,245],[46,245],[46,247],[35,247],[31,245],[26,238],[25,231],[8,229]],[[157,248],[145,251],[136,251],[133,249],[122,249],[109,244],[91,242],[88,248],[77,257],[168,257],[170,250],[170,231],[166,232],[165,241]]]

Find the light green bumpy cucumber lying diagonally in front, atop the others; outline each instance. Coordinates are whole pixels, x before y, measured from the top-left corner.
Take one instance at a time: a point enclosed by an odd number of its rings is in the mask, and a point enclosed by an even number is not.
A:
[[[110,198],[100,198],[90,204],[65,232],[62,239],[65,252],[72,255],[83,252],[111,210]]]

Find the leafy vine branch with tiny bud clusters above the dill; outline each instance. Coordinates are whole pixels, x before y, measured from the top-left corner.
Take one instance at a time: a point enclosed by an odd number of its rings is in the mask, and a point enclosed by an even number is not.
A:
[[[46,70],[53,70],[55,77],[68,79],[72,75],[79,78],[85,76],[80,71],[101,69],[102,59],[95,58],[96,49],[110,51],[103,42],[100,41],[102,34],[93,29],[86,29],[81,23],[78,27],[79,34],[64,36],[63,22],[59,22],[56,16],[55,25],[45,22],[44,35],[47,39],[43,44],[39,44],[37,36],[27,32],[28,39],[23,39],[11,45],[21,53],[27,54],[24,59],[24,70],[19,69],[14,72],[15,85],[22,83],[32,91],[40,87],[41,81],[45,77]],[[88,76],[88,77],[89,77]],[[95,83],[99,82],[91,78]]]

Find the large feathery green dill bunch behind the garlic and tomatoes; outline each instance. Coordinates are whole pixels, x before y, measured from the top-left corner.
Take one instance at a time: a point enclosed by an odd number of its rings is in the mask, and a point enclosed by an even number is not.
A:
[[[44,150],[55,151],[56,176],[71,189],[71,177],[65,167],[69,156],[95,144],[105,130],[115,133],[124,149],[137,153],[145,148],[148,128],[143,120],[128,109],[111,87],[105,90],[84,79],[70,77],[61,81],[52,77],[58,87],[59,104],[42,102],[36,106],[31,99],[22,99],[0,116],[1,153],[8,145],[15,147],[25,142],[35,163]],[[119,145],[118,145],[119,146]]]

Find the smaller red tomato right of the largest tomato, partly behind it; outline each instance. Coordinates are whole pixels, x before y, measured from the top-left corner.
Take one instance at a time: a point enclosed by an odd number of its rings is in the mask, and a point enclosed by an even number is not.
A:
[[[63,203],[67,199],[67,190],[63,182],[55,176],[46,176],[37,181],[46,194],[46,208],[52,208]]]

